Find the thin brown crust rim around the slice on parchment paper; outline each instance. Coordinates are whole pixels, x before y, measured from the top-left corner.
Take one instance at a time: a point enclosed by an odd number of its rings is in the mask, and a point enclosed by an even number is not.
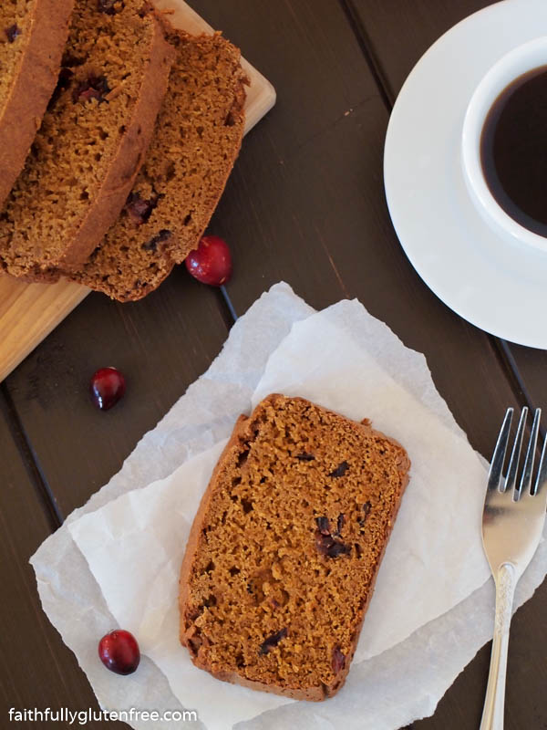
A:
[[[261,401],[261,403],[259,403],[259,405],[257,406],[257,409],[259,406],[262,406],[263,403],[265,403],[265,402],[270,402],[271,404],[274,405],[275,401],[279,398],[284,398],[284,396],[279,393],[272,393],[271,395],[264,398],[263,401]],[[294,398],[292,400],[301,401],[301,402],[304,402],[304,404],[309,403],[309,401],[307,401],[304,398]],[[323,411],[323,412],[333,413],[333,411],[330,411],[329,409],[322,408],[317,405],[315,405],[315,408],[317,408],[318,410]],[[339,415],[339,414],[336,413],[335,415]],[[186,627],[184,625],[184,615],[185,615],[186,609],[189,607],[189,599],[190,599],[189,582],[190,582],[190,577],[191,577],[191,567],[192,567],[193,559],[194,559],[196,551],[197,551],[198,541],[199,541],[200,534],[201,534],[201,529],[204,526],[205,517],[207,516],[209,506],[212,501],[212,494],[214,491],[214,486],[216,484],[216,478],[217,478],[218,474],[220,473],[220,471],[222,470],[224,461],[230,456],[230,454],[232,454],[232,451],[235,451],[235,453],[237,453],[241,449],[243,442],[245,442],[246,439],[252,435],[250,426],[253,422],[253,416],[254,416],[254,412],[251,414],[251,416],[241,415],[238,418],[238,420],[235,422],[235,426],[233,428],[232,435],[231,435],[228,443],[226,443],[226,446],[222,450],[222,454],[219,458],[219,461],[216,464],[216,466],[212,472],[211,480],[209,482],[209,485],[207,486],[207,489],[206,489],[204,495],[201,497],[200,506],[198,508],[198,511],[196,513],[196,516],[194,517],[194,521],[191,526],[190,537],[188,538],[188,543],[187,543],[186,550],[184,553],[184,558],[182,559],[181,575],[180,575],[180,580],[179,580],[179,609],[180,609],[180,615],[181,615],[180,640],[181,640],[181,644],[183,646],[186,646],[189,649],[189,651],[191,653],[191,660],[196,666],[200,667],[200,669],[204,669],[206,672],[211,673],[212,676],[216,677],[217,679],[222,680],[223,682],[229,682],[232,684],[240,684],[244,687],[249,687],[250,689],[254,689],[254,690],[260,690],[262,692],[281,694],[285,697],[291,697],[294,700],[307,700],[307,701],[312,701],[312,702],[320,702],[329,697],[333,697],[346,681],[347,673],[349,672],[349,668],[351,666],[353,656],[356,652],[357,641],[359,639],[359,634],[361,632],[363,621],[365,620],[366,610],[368,609],[368,605],[369,605],[372,595],[374,593],[379,568],[380,568],[382,559],[384,558],[387,543],[389,541],[389,537],[391,535],[393,526],[395,524],[395,519],[397,517],[397,513],[398,513],[398,509],[399,509],[401,500],[402,500],[402,496],[404,495],[404,492],[408,485],[408,479],[409,479],[408,470],[410,468],[410,460],[408,459],[408,455],[400,443],[398,443],[395,439],[387,436],[385,433],[381,433],[381,432],[373,429],[370,426],[370,422],[367,419],[365,419],[364,421],[362,421],[360,423],[355,423],[357,427],[361,427],[362,429],[364,429],[367,434],[374,434],[375,436],[387,441],[388,443],[391,443],[392,445],[397,447],[398,450],[400,450],[399,451],[400,461],[397,464],[397,467],[398,467],[397,471],[401,477],[401,486],[400,486],[400,491],[399,491],[397,502],[394,504],[393,509],[388,516],[388,521],[387,521],[388,527],[387,527],[386,538],[384,540],[384,544],[382,546],[382,550],[381,550],[380,556],[377,561],[377,571],[370,584],[370,589],[369,589],[367,597],[366,597],[366,602],[363,606],[360,621],[356,625],[356,629],[352,636],[351,652],[347,655],[344,667],[340,670],[340,672],[338,672],[336,674],[335,680],[333,681],[333,683],[330,683],[328,685],[322,684],[321,686],[318,686],[318,687],[310,687],[310,688],[306,688],[306,689],[286,688],[286,687],[280,687],[275,684],[266,684],[266,683],[261,683],[261,682],[255,682],[253,680],[248,680],[245,677],[241,676],[240,674],[234,673],[234,672],[213,671],[211,667],[205,665],[203,662],[199,662],[197,656],[194,656],[193,653],[191,652],[191,646],[189,644],[189,639],[191,639],[191,633],[189,633],[186,630]]]

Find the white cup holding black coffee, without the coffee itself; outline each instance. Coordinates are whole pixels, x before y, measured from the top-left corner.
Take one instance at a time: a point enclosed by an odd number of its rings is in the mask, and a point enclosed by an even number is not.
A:
[[[480,136],[492,104],[512,81],[542,66],[547,66],[547,36],[534,38],[514,48],[490,68],[475,89],[465,114],[461,158],[470,196],[485,221],[513,243],[531,245],[547,253],[547,238],[518,224],[497,203],[490,193],[480,162]]]

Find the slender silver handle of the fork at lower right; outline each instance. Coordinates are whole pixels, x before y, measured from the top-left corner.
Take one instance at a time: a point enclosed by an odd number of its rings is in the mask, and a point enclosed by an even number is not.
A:
[[[503,730],[503,706],[505,703],[505,675],[507,673],[507,649],[509,627],[517,576],[511,563],[503,563],[494,576],[496,582],[496,618],[490,657],[488,687],[480,721],[480,730]]]

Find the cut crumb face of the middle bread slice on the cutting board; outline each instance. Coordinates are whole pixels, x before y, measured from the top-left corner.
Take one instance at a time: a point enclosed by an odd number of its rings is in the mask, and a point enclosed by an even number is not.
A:
[[[5,15],[12,2],[2,5]],[[24,18],[29,3],[19,5]],[[154,21],[143,8],[141,0],[77,0],[57,89],[0,214],[0,263],[14,276],[62,260],[95,202],[150,62]]]

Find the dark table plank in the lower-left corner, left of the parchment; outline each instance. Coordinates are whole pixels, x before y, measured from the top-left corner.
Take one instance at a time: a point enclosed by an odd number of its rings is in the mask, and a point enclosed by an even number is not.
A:
[[[35,464],[25,458],[22,434],[17,432],[1,392],[0,454],[0,581],[4,587],[0,601],[0,726],[7,728],[10,707],[68,707],[76,712],[95,706],[96,701],[88,683],[82,682],[75,656],[46,619],[36,592],[28,558],[58,523],[40,493]],[[114,724],[101,727],[113,728]]]

